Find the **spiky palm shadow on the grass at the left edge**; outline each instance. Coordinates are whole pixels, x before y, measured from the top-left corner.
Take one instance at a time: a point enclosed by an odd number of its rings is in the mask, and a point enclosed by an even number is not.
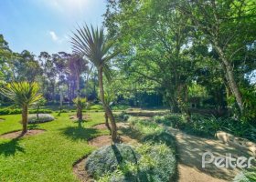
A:
[[[0,144],[0,156],[4,155],[5,157],[14,156],[17,151],[25,153],[25,149],[20,147],[18,143],[19,137],[12,139],[8,142]]]

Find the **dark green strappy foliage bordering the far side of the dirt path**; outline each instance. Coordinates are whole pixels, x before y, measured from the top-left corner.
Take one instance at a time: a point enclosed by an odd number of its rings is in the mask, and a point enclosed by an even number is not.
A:
[[[217,131],[223,130],[234,136],[256,141],[255,126],[232,118],[192,115],[190,122],[187,122],[182,115],[168,114],[165,116],[155,116],[154,121],[165,126],[181,129],[188,134],[196,136],[214,137]]]

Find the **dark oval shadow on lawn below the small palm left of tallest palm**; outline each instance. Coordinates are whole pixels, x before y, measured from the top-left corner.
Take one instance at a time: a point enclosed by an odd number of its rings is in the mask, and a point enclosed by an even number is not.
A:
[[[89,140],[94,136],[98,136],[100,131],[94,128],[85,128],[81,122],[78,126],[69,126],[61,129],[63,135],[68,136],[73,140]]]

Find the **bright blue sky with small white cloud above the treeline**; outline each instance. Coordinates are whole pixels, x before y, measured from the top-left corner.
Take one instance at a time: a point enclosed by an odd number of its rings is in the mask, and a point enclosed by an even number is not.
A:
[[[0,0],[0,34],[15,52],[71,52],[71,31],[101,25],[105,9],[106,0]]]

